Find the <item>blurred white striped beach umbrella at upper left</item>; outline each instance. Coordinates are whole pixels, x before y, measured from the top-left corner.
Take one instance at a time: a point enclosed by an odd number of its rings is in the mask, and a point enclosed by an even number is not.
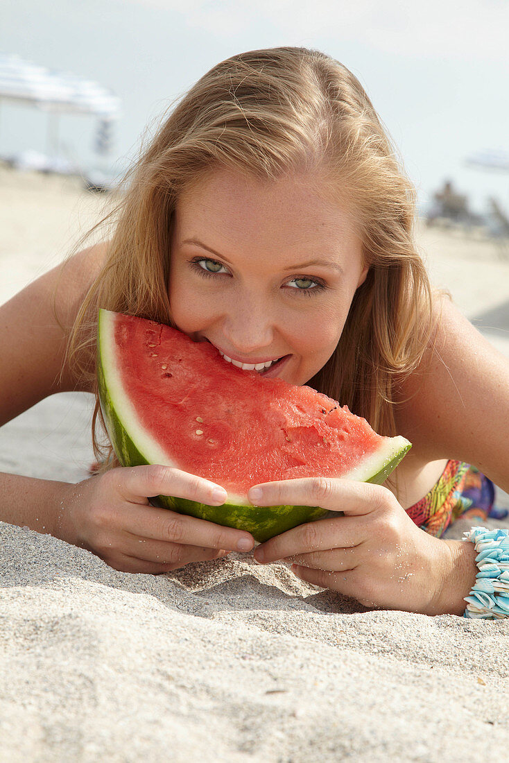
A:
[[[112,121],[119,118],[121,108],[120,98],[97,82],[37,66],[14,55],[0,55],[0,101],[2,100],[31,105],[49,112],[48,145],[50,137],[56,143],[56,120],[60,114],[92,114],[101,122],[108,121],[108,127],[111,128]]]

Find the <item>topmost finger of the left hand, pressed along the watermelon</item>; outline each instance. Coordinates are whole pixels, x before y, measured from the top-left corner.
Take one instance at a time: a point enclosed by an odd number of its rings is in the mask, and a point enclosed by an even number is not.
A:
[[[227,491],[221,485],[172,466],[152,464],[123,467],[112,470],[110,474],[113,475],[114,472],[121,473],[116,476],[119,479],[118,488],[124,497],[137,503],[147,504],[147,498],[153,495],[172,495],[209,506],[220,506],[227,500]]]

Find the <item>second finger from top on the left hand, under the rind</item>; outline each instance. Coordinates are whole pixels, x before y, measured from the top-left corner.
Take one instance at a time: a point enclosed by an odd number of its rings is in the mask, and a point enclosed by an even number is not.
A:
[[[250,551],[254,546],[250,533],[169,509],[133,505],[126,507],[121,519],[124,530],[136,539],[241,552]]]

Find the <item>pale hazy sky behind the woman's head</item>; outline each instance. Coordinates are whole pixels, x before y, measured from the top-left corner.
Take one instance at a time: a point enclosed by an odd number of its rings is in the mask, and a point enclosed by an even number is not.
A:
[[[360,79],[417,185],[421,204],[445,179],[485,211],[509,211],[509,173],[466,165],[509,153],[507,0],[1,0],[0,52],[95,79],[123,115],[111,160],[124,166],[147,125],[215,63],[243,50],[304,45]],[[47,114],[0,104],[0,154],[45,151]],[[63,116],[63,152],[84,166],[96,121]],[[150,133],[149,133],[150,134]]]

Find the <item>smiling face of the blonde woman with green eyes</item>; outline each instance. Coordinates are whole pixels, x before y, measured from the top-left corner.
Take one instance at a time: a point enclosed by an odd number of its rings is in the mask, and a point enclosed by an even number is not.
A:
[[[169,271],[176,327],[237,365],[282,359],[263,375],[309,381],[368,272],[352,218],[320,187],[221,169],[182,193]]]

